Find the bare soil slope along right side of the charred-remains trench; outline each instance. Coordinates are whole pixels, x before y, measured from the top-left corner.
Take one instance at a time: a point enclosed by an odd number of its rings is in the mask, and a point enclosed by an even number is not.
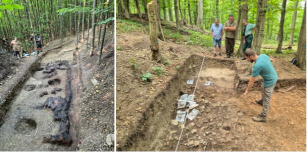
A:
[[[109,29],[111,31],[111,29]],[[103,49],[102,65],[97,66],[98,51],[89,57],[90,47],[80,47],[74,54],[73,84],[75,98],[71,113],[74,115],[80,151],[114,151],[108,145],[108,134],[114,134],[114,40],[107,31]],[[96,36],[98,37],[98,36]],[[98,42],[96,42],[98,43]],[[97,80],[94,86],[92,79]],[[75,102],[78,101],[78,102]]]

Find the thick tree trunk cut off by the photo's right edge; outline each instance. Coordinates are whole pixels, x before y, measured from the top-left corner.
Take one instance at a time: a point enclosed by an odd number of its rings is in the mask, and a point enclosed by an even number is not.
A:
[[[297,44],[297,66],[306,70],[306,3]]]

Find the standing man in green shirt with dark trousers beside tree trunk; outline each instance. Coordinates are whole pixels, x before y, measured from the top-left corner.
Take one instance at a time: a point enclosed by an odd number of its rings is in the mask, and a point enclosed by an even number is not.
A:
[[[253,42],[253,33],[256,30],[255,24],[247,23],[246,20],[242,20],[242,26],[244,27],[243,30],[243,53],[245,53],[246,49],[252,48]],[[242,58],[245,60],[245,58]]]

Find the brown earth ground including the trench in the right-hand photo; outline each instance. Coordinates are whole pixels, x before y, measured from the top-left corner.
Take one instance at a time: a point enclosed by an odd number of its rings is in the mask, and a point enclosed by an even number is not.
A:
[[[150,61],[146,26],[118,20],[117,28],[117,150],[173,151],[181,132],[179,125],[171,124],[177,101],[182,94],[193,94],[203,55],[212,55],[212,48],[201,45],[206,42],[185,41],[196,39],[191,38],[193,34],[177,36],[184,41],[172,39],[177,34],[170,30],[165,34],[167,41],[159,42],[162,56],[167,58],[160,64]],[[239,58],[206,57],[194,99],[200,113],[187,120],[178,150],[306,150],[305,72],[287,58],[273,58],[279,80],[267,122],[259,123],[252,117],[262,108],[255,103],[261,97],[261,79],[246,98],[240,97],[248,83],[250,64]],[[152,70],[155,66],[163,67],[161,75]],[[150,82],[141,81],[146,71],[151,73]],[[191,79],[194,84],[187,84]],[[213,84],[204,86],[206,81]],[[294,89],[288,91],[291,86]]]

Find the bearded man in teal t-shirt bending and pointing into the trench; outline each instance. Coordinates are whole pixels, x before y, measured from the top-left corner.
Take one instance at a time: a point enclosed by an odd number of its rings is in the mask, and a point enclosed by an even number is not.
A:
[[[256,100],[256,102],[262,105],[263,109],[259,116],[253,117],[253,120],[257,122],[266,122],[266,116],[270,107],[270,98],[278,79],[277,72],[272,64],[274,60],[265,54],[258,56],[252,49],[246,51],[244,55],[245,58],[251,63],[255,62],[255,65],[253,66],[253,73],[248,87],[242,96],[245,96],[249,92],[256,80],[256,77],[261,75],[263,78],[262,99]]]

